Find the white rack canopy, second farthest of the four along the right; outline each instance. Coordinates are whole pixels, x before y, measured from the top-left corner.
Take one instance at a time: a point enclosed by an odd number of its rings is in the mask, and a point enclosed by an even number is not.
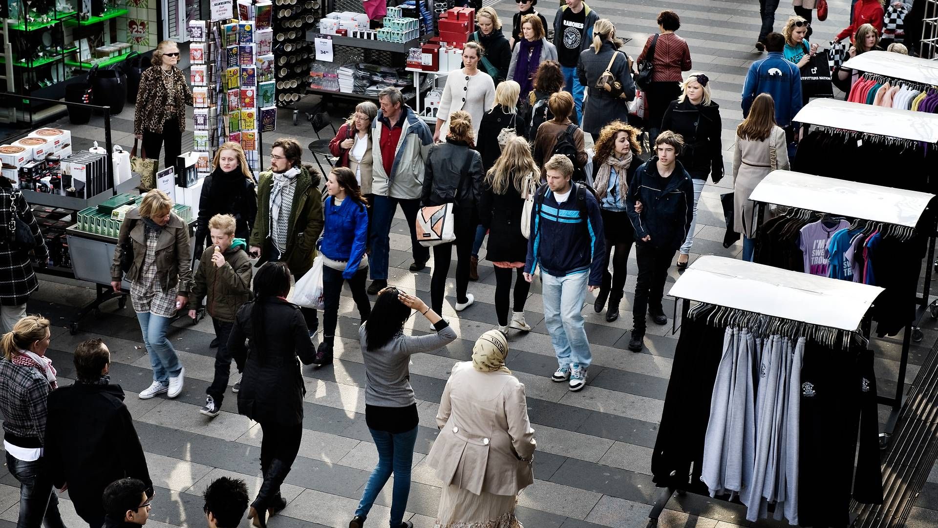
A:
[[[938,143],[938,115],[836,99],[808,102],[794,121],[912,141]]]

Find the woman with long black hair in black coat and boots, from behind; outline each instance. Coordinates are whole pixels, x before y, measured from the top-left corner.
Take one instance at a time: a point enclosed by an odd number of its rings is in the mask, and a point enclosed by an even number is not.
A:
[[[283,262],[267,262],[254,275],[254,301],[241,306],[228,339],[240,372],[237,412],[261,424],[261,471],[264,484],[250,505],[248,518],[265,528],[267,513],[286,507],[280,485],[290,473],[303,434],[303,365],[316,357],[299,306],[288,303],[290,270]],[[259,329],[255,332],[255,329]],[[250,349],[245,340],[250,339]]]

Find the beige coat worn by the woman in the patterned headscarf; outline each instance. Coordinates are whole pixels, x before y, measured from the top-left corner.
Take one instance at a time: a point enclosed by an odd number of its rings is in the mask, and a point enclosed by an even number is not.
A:
[[[534,482],[537,443],[524,385],[505,372],[457,363],[436,414],[440,435],[428,463],[444,486],[475,494],[515,495]]]

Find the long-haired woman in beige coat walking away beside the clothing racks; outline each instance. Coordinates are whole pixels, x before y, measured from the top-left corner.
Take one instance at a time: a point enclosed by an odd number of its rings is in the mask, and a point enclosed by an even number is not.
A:
[[[749,116],[736,127],[733,156],[734,230],[743,234],[743,260],[752,261],[755,251],[756,204],[749,199],[753,189],[768,173],[788,170],[785,131],[775,124],[775,101],[759,94]]]

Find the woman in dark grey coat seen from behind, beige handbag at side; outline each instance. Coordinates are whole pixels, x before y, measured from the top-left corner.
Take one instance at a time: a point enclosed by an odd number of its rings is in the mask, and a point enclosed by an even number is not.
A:
[[[635,99],[635,82],[628,67],[628,55],[620,52],[622,41],[615,38],[615,26],[608,19],[599,19],[593,26],[593,49],[580,54],[577,76],[580,84],[588,90],[589,97],[583,105],[583,132],[599,137],[599,131],[607,124],[619,120],[628,123],[628,101]],[[613,60],[613,56],[615,59]],[[612,61],[612,66],[610,66]],[[614,97],[603,88],[596,87],[603,72],[609,69],[622,85],[625,97]]]

